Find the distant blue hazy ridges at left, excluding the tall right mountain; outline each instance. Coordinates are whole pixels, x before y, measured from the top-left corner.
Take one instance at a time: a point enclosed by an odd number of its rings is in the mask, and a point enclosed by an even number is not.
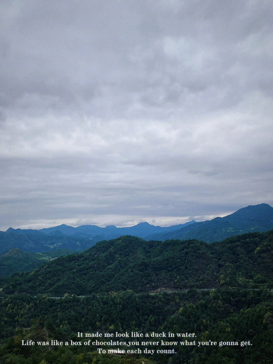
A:
[[[13,229],[9,227],[6,232],[0,232],[0,254],[18,248],[24,252],[41,253],[59,249],[73,251],[86,250],[97,242],[110,240],[121,235],[132,235],[144,238],[148,234],[158,232],[173,232],[181,226],[196,223],[188,222],[184,225],[169,227],[153,226],[148,222],[141,222],[131,227],[83,225],[78,227],[65,224],[49,227],[47,229]]]

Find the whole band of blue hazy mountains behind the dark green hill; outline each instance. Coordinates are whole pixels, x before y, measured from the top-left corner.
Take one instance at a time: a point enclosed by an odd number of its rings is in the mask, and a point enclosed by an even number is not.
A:
[[[225,238],[250,232],[265,232],[273,229],[273,207],[266,203],[244,207],[225,217],[168,227],[153,226],[141,222],[131,227],[83,225],[72,227],[60,225],[47,229],[12,229],[0,232],[0,254],[12,248],[24,252],[47,252],[59,249],[80,251],[90,248],[102,240],[115,239],[123,235],[137,236],[145,240],[197,239],[205,242],[221,241]]]

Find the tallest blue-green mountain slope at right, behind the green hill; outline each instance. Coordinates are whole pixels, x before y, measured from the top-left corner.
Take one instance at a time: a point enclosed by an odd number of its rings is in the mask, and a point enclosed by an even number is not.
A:
[[[145,237],[146,240],[197,239],[206,242],[223,239],[250,232],[265,232],[273,229],[273,207],[267,203],[247,206],[225,217],[197,222],[168,232]]]

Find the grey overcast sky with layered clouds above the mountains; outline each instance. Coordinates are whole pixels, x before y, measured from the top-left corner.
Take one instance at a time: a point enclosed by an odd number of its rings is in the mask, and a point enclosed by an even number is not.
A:
[[[0,2],[0,230],[273,206],[272,0]]]

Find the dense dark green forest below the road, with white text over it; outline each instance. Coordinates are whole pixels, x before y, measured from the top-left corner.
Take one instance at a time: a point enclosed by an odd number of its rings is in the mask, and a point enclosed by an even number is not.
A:
[[[190,289],[154,295],[126,291],[82,298],[67,296],[59,300],[42,295],[5,296],[0,310],[1,363],[149,363],[150,360],[256,364],[272,363],[273,359],[273,304],[268,290]],[[77,332],[126,331],[194,332],[196,343],[211,340],[217,345],[177,345],[173,355],[143,355],[140,341],[141,354],[117,357],[99,355],[96,345],[84,346],[84,340],[77,337]],[[69,343],[80,340],[82,346],[23,346],[22,340],[67,340]],[[237,341],[238,345],[220,346],[221,341]],[[160,344],[161,340],[158,347],[149,348],[166,349]]]

